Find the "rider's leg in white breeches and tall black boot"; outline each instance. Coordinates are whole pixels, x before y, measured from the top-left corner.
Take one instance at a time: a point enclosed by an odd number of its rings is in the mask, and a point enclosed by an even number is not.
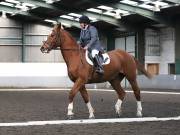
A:
[[[101,65],[101,62],[100,62],[100,59],[99,59],[99,56],[98,56],[99,51],[93,49],[92,52],[91,52],[91,54],[92,54],[92,57],[93,57],[93,59],[94,59],[94,63],[95,63],[96,66],[97,66],[96,72],[97,72],[97,73],[100,73],[100,74],[103,74],[103,73],[104,73],[103,66]]]

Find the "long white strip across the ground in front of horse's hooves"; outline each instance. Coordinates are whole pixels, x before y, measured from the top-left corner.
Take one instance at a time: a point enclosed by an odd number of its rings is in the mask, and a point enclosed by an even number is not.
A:
[[[44,126],[44,125],[64,125],[64,124],[97,124],[97,123],[132,123],[132,122],[153,122],[153,121],[177,121],[178,117],[144,117],[144,118],[116,118],[116,119],[84,119],[84,120],[54,120],[54,121],[29,121],[18,123],[0,123],[0,127],[24,127],[24,126]]]

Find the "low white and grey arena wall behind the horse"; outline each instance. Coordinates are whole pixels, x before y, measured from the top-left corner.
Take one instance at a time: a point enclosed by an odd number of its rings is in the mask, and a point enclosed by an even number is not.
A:
[[[0,63],[0,69],[1,88],[69,88],[73,85],[65,63]],[[157,75],[152,80],[138,75],[137,79],[140,88],[180,89],[179,75]],[[127,81],[123,81],[122,86],[130,87]],[[87,87],[111,88],[107,82]]]

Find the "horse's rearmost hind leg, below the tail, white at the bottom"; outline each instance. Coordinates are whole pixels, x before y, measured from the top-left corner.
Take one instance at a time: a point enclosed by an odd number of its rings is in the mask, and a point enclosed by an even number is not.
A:
[[[137,116],[142,117],[141,93],[140,93],[140,89],[138,87],[137,81],[136,81],[136,79],[129,80],[129,83],[132,86],[132,89],[134,91],[134,95],[135,95],[136,100],[137,100]]]

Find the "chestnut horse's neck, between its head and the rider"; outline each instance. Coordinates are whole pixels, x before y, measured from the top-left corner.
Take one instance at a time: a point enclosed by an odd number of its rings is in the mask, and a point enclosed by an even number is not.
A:
[[[69,50],[68,50],[69,49]],[[74,39],[72,39],[67,32],[63,32],[63,43],[61,45],[62,56],[69,66],[74,63],[74,59],[79,60],[79,51],[78,45]],[[76,61],[76,63],[77,63]]]

